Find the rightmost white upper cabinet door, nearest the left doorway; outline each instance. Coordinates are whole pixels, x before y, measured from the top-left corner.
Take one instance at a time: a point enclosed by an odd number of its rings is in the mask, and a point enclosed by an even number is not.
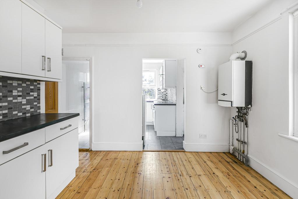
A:
[[[46,77],[62,78],[62,30],[46,20]]]

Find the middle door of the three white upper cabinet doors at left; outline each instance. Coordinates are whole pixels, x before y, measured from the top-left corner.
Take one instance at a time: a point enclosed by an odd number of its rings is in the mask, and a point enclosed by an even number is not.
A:
[[[44,23],[43,16],[22,3],[22,74],[45,76]]]

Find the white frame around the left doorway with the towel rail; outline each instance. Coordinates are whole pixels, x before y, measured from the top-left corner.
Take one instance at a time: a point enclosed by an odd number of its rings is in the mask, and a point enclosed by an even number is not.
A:
[[[93,105],[93,57],[92,56],[63,56],[62,61],[89,61],[89,69],[90,69],[90,136],[89,136],[89,143],[90,143],[90,150],[92,150],[92,142],[93,142],[93,122],[92,122],[92,105]]]

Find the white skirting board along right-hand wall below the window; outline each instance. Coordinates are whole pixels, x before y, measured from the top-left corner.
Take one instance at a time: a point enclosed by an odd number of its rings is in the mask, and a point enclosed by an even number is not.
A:
[[[283,190],[292,198],[298,198],[298,185],[293,182],[288,181],[282,175],[275,172],[273,169],[267,167],[266,165],[260,163],[259,160],[249,156],[249,166],[254,170],[259,172],[265,178],[267,178],[271,183],[275,184],[278,188]]]

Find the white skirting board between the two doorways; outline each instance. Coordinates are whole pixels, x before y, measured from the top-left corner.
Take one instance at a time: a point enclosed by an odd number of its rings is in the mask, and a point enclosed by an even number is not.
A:
[[[93,151],[142,151],[143,142],[94,142],[92,143]]]

